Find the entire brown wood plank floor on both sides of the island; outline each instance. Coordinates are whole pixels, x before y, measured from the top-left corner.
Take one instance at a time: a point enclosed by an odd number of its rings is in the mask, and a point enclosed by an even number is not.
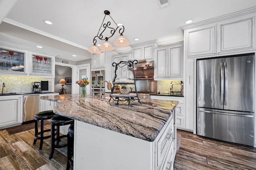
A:
[[[50,128],[50,125],[46,125]],[[212,140],[178,130],[182,134],[180,149],[176,153],[176,170],[227,170],[256,169],[256,148]],[[66,148],[55,150],[51,160],[50,139],[42,150],[39,141],[33,145],[34,129],[16,134],[0,130],[1,170],[64,170]],[[72,167],[71,167],[72,169]]]

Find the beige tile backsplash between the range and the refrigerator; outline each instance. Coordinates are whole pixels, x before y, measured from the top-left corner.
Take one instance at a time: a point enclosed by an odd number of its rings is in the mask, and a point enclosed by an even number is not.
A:
[[[180,83],[180,81],[183,80],[161,80],[161,81],[157,81],[157,92],[160,93],[170,93],[170,88],[171,88],[171,83]],[[180,86],[173,86],[174,87],[174,91],[179,91],[180,90]],[[175,89],[177,88],[177,89]]]

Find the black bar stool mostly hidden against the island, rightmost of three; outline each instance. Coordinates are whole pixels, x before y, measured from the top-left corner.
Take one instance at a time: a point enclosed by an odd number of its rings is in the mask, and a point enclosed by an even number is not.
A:
[[[74,160],[72,157],[74,156],[74,124],[70,125],[68,128],[68,162],[66,170],[69,170],[70,164],[73,166]]]

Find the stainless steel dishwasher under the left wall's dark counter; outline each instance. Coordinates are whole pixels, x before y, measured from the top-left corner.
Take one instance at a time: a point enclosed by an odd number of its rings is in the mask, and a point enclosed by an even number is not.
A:
[[[39,109],[39,95],[24,95],[22,124],[34,121],[35,115],[39,112]]]

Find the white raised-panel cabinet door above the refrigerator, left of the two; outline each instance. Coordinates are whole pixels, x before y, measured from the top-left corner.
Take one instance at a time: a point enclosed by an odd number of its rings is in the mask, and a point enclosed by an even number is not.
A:
[[[185,30],[184,35],[186,57],[216,53],[214,24]]]

